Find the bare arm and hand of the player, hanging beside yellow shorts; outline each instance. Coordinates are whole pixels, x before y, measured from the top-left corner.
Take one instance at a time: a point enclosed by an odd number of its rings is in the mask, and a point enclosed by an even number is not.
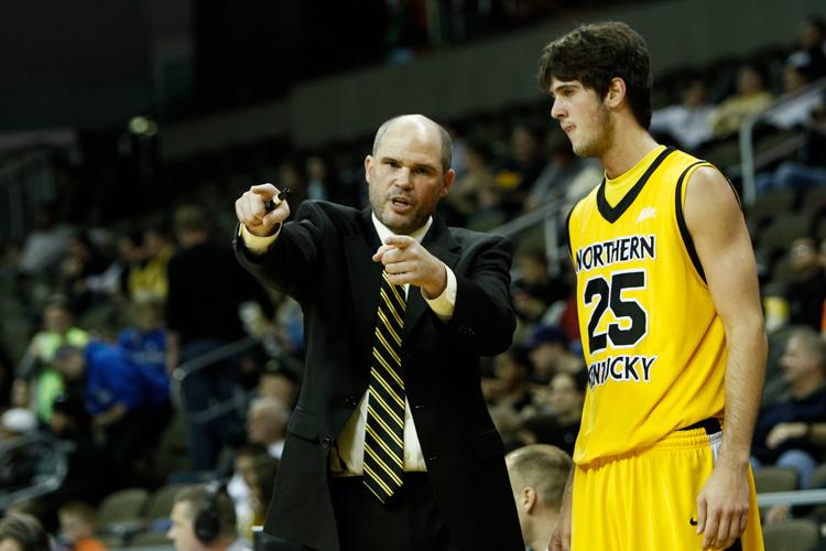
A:
[[[760,406],[767,339],[757,266],[740,206],[726,179],[700,168],[686,188],[685,218],[728,346],[722,444],[697,497],[703,548],[728,548],[746,529],[748,465]]]

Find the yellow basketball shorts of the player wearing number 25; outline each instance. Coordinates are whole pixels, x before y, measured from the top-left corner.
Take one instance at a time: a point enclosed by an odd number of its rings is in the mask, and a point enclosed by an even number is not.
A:
[[[721,432],[675,431],[652,447],[599,460],[574,472],[573,551],[697,551],[697,496],[714,467]],[[730,549],[762,551],[760,512],[749,468],[746,531]]]

